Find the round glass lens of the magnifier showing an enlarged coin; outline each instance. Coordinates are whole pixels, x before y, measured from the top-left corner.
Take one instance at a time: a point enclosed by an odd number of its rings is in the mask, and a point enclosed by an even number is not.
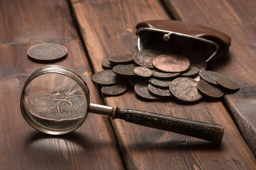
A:
[[[87,114],[87,98],[72,78],[58,73],[41,74],[23,91],[26,114],[39,127],[53,132],[78,127]]]

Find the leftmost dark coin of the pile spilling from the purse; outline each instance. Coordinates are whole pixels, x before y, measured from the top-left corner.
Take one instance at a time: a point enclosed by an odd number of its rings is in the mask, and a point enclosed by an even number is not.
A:
[[[93,82],[99,85],[114,85],[121,82],[121,79],[112,70],[103,70],[93,74]]]

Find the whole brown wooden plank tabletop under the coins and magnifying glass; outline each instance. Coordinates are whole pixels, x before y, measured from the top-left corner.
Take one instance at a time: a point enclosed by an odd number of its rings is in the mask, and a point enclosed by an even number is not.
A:
[[[91,81],[103,59],[131,51],[137,23],[160,19],[198,23],[230,35],[226,59],[207,69],[235,79],[241,89],[221,101],[193,105],[145,102],[132,90],[103,97]],[[255,20],[254,0],[1,0],[0,169],[256,169]],[[67,47],[67,58],[54,64],[84,78],[91,102],[221,124],[222,143],[96,115],[63,136],[34,130],[21,115],[20,94],[27,77],[46,65],[26,54],[43,42]]]

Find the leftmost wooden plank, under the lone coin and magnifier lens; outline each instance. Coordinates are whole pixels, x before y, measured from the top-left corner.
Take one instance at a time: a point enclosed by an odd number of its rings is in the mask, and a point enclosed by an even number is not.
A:
[[[0,13],[0,169],[122,169],[108,119],[88,115],[75,132],[49,136],[30,127],[20,112],[27,77],[46,65],[30,61],[26,51],[43,42],[67,47],[67,58],[55,65],[76,70],[90,88],[91,102],[101,103],[68,3],[6,0],[0,1]]]

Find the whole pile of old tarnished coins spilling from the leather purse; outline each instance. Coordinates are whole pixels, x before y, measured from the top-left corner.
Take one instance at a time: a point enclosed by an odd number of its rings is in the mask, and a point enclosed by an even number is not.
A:
[[[185,53],[161,54],[154,50],[138,50],[105,59],[106,70],[93,75],[92,80],[101,86],[102,94],[124,94],[127,84],[134,86],[137,96],[147,100],[175,97],[194,102],[203,96],[219,98],[224,89],[238,90],[239,85],[226,76],[206,71],[203,58]]]

